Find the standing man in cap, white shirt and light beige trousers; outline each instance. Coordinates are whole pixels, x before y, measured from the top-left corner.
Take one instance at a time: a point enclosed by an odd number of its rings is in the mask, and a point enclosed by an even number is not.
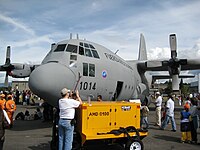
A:
[[[156,106],[156,123],[155,126],[161,126],[161,106],[162,106],[162,97],[160,92],[156,92],[156,100],[154,102]]]

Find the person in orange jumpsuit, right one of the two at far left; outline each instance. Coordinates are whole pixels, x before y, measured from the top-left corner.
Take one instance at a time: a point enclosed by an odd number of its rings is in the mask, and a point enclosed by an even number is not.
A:
[[[15,104],[15,101],[13,100],[13,97],[12,95],[7,95],[7,102],[5,104],[5,110],[8,114],[8,117],[11,121],[11,124],[10,124],[10,127],[12,128],[13,126],[13,115],[14,115],[14,112],[16,110],[16,104]]]

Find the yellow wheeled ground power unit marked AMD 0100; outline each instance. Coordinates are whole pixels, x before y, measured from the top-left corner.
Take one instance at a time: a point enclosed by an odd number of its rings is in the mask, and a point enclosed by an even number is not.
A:
[[[147,130],[140,129],[140,103],[83,103],[76,111],[76,121],[75,147],[101,140],[119,143],[127,150],[143,149],[141,140],[148,134]]]

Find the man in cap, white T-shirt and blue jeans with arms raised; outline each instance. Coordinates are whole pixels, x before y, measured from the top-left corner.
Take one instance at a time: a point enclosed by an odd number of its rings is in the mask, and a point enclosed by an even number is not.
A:
[[[70,98],[70,91],[66,88],[61,90],[62,98],[59,99],[59,150],[71,150],[74,131],[75,108],[82,104],[79,92],[76,91],[77,100]]]

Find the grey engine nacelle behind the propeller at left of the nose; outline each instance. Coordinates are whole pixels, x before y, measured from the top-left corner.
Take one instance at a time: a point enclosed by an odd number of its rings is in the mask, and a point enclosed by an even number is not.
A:
[[[31,66],[28,64],[13,64],[14,69],[9,73],[14,78],[25,78],[31,74]]]

